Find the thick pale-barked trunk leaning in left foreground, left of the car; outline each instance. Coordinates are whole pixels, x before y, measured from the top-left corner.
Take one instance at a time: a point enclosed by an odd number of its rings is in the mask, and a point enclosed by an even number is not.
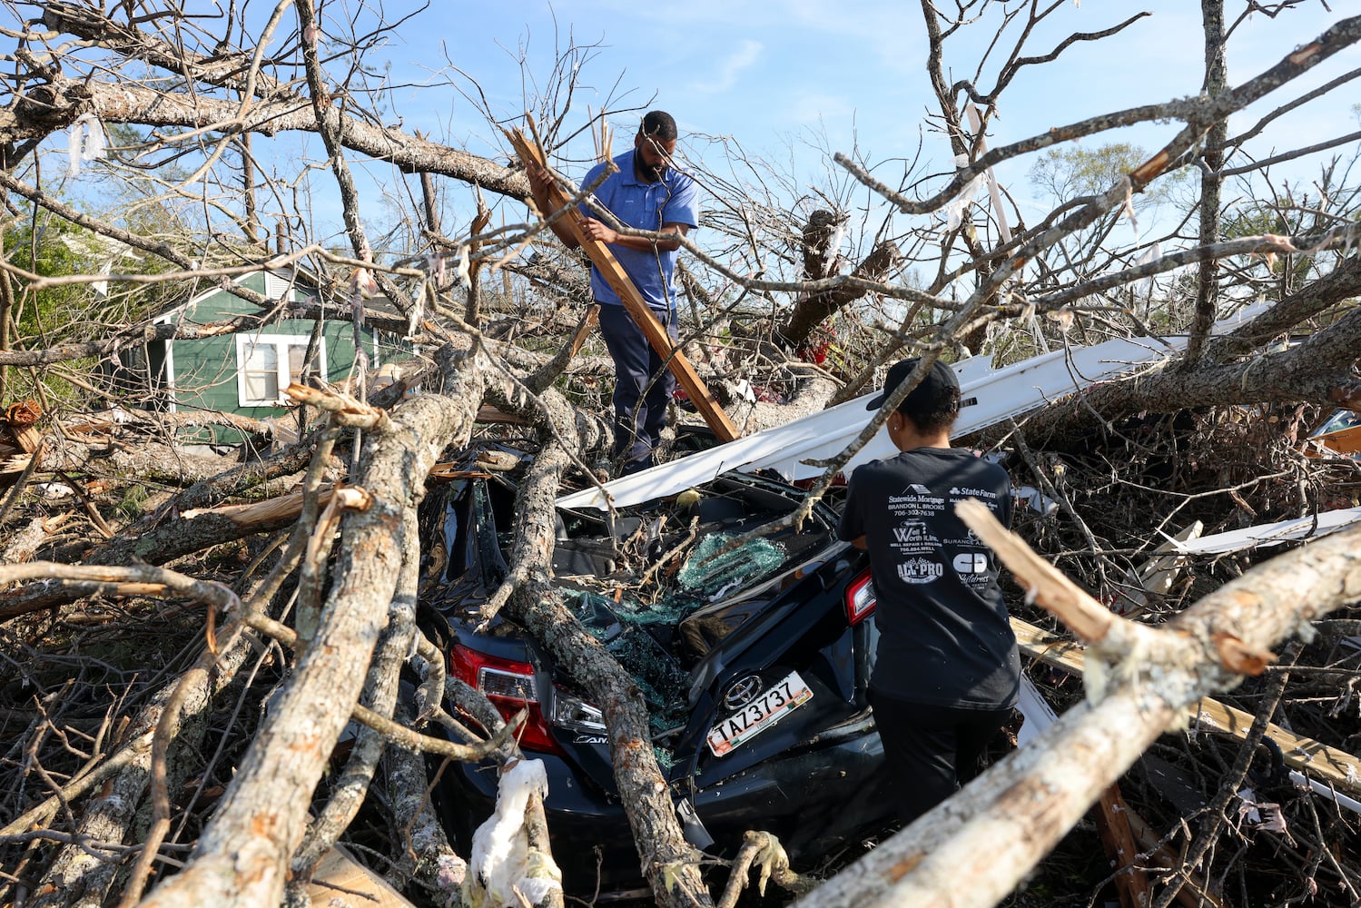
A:
[[[289,859],[302,840],[308,803],[350,717],[397,584],[403,510],[446,444],[467,441],[482,399],[471,362],[446,377],[448,396],[418,395],[373,433],[358,479],[374,497],[342,521],[346,545],[320,623],[261,723],[226,795],[184,870],[146,905],[278,904]]]

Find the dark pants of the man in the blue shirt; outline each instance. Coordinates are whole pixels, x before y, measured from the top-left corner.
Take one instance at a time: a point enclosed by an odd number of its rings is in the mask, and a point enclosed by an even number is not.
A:
[[[675,313],[652,310],[676,342]],[[614,451],[629,474],[652,466],[675,378],[623,306],[600,306],[600,335],[614,359]]]

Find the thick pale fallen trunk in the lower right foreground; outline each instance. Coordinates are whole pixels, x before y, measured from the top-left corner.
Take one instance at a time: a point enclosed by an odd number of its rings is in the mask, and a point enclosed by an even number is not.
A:
[[[1007,565],[1037,588],[1032,574]],[[1147,636],[1109,632],[1096,647],[1109,681],[1105,697],[1093,692],[1089,663],[1087,702],[799,904],[996,904],[1185,707],[1236,685],[1241,675],[1233,666],[1253,667],[1240,658],[1244,651],[1274,645],[1302,622],[1358,598],[1361,530],[1259,565],[1165,629],[1145,629]],[[1149,645],[1120,651],[1120,637]],[[961,886],[961,879],[969,885]]]

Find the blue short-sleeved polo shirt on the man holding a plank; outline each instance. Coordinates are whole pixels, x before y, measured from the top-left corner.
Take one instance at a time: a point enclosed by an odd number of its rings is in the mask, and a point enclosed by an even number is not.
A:
[[[630,148],[614,159],[619,172],[611,174],[595,191],[596,201],[621,223],[637,230],[660,230],[667,223],[698,227],[700,187],[695,185],[695,181],[675,167],[667,167],[666,176],[657,182],[644,182],[633,170],[633,155],[634,150]],[[604,165],[597,163],[581,185],[589,187],[600,177],[602,170],[604,170]],[[587,206],[581,206],[581,214],[588,218],[597,216]],[[612,245],[610,252],[619,260],[649,306],[666,310],[674,305],[675,291],[671,285],[671,272],[675,268],[675,250],[657,252]],[[591,265],[591,294],[602,305],[623,305],[619,301],[619,294],[606,283],[600,270],[595,265]]]

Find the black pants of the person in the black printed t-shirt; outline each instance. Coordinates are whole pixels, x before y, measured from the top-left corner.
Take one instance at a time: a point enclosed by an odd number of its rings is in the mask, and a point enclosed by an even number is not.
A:
[[[981,772],[983,751],[1011,716],[1010,709],[932,707],[875,690],[870,705],[904,826]]]

